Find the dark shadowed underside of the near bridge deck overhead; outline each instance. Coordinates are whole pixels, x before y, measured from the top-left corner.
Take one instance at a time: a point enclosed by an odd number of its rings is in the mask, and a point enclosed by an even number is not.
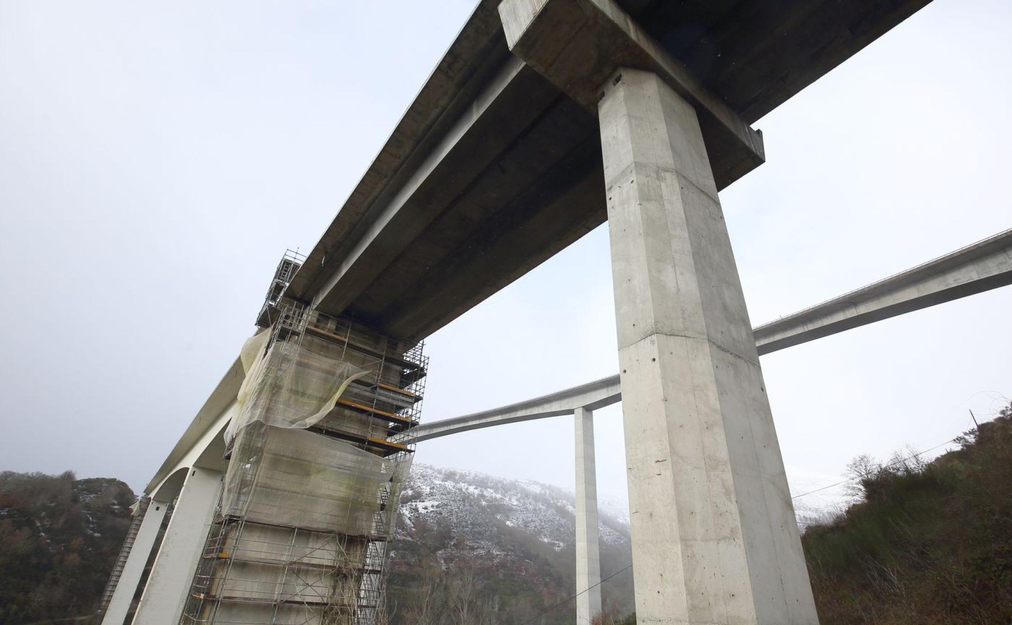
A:
[[[927,0],[619,3],[751,123]],[[503,81],[497,6],[479,3],[291,295],[423,338],[605,219],[595,115],[530,68]]]

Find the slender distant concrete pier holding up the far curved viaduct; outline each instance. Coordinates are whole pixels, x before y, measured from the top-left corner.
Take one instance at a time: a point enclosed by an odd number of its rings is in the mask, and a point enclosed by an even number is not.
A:
[[[601,612],[601,559],[597,543],[597,469],[594,414],[578,408],[576,427],[576,598],[577,625],[590,625]],[[586,592],[584,592],[586,591]]]

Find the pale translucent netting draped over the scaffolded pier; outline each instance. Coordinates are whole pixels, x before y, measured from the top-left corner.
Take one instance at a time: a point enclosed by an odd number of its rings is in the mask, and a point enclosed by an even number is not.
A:
[[[306,430],[370,372],[346,362],[342,346],[303,337],[267,348],[269,336],[243,346],[246,378],[226,432],[233,451],[222,515],[356,536],[388,533],[384,517],[393,515],[375,513],[399,495],[410,456],[387,459]]]

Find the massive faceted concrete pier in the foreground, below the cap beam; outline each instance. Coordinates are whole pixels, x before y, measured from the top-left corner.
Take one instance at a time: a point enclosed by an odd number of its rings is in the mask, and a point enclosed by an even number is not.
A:
[[[639,622],[818,623],[695,110],[649,72],[600,91]]]

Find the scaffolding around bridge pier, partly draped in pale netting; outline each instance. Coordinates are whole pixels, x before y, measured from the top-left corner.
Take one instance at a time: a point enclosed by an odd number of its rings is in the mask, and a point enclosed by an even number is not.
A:
[[[181,623],[377,625],[427,358],[284,297],[286,254],[247,341],[229,461]],[[283,284],[280,289],[276,285]]]

